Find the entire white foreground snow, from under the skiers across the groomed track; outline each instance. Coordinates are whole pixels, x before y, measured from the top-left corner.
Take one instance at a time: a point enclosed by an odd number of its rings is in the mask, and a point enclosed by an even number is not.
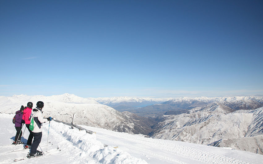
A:
[[[28,150],[22,150],[22,145],[9,145],[13,142],[16,133],[14,124],[11,123],[12,117],[10,114],[0,114],[0,119],[5,123],[5,126],[0,126],[0,163],[12,163],[15,158],[24,158],[28,153]],[[44,123],[43,137],[38,150],[42,149],[46,155],[14,163],[261,164],[263,161],[263,155],[230,148],[153,139],[102,128],[82,127],[96,133],[91,135],[55,121],[51,121],[50,124]],[[22,128],[24,135],[21,141],[26,142],[28,131],[24,129],[25,127]],[[47,143],[47,140],[50,143]]]

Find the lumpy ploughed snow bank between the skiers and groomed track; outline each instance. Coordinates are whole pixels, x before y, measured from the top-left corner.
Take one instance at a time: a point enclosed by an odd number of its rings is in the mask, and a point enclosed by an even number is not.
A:
[[[119,149],[106,146],[96,139],[96,134],[87,134],[86,131],[70,129],[63,123],[52,122],[52,128],[55,131],[60,131],[63,137],[72,145],[80,150],[80,157],[90,162],[93,159],[96,163],[147,163],[144,160],[132,157],[127,152]]]

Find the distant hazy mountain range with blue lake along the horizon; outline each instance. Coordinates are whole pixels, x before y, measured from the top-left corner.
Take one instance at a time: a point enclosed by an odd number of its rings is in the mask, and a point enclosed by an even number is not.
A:
[[[93,99],[93,98],[91,98]],[[113,107],[118,111],[129,111],[138,116],[156,117],[162,114],[186,113],[194,107],[203,107],[211,103],[221,103],[233,110],[256,109],[263,106],[263,97],[197,97],[177,99],[152,99],[152,98],[96,98],[98,103]]]

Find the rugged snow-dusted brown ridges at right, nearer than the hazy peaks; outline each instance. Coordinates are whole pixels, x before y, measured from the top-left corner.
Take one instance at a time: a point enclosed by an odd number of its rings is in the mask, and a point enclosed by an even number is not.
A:
[[[263,107],[232,113],[220,104],[202,109],[195,108],[190,114],[159,116],[153,137],[217,146],[222,142],[221,145],[233,149],[263,154],[260,136],[263,135]]]

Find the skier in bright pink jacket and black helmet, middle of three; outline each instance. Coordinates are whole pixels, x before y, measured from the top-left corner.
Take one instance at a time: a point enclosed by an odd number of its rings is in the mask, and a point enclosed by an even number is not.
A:
[[[32,139],[33,139],[33,133],[32,131],[29,129],[29,125],[30,125],[30,115],[31,115],[31,111],[32,111],[32,107],[33,107],[33,103],[32,102],[28,102],[27,106],[24,109],[24,113],[23,113],[23,120],[25,120],[25,124],[26,127],[28,128],[29,131],[29,136],[28,136],[28,141],[27,144],[24,146],[24,148],[30,148],[32,145]]]

